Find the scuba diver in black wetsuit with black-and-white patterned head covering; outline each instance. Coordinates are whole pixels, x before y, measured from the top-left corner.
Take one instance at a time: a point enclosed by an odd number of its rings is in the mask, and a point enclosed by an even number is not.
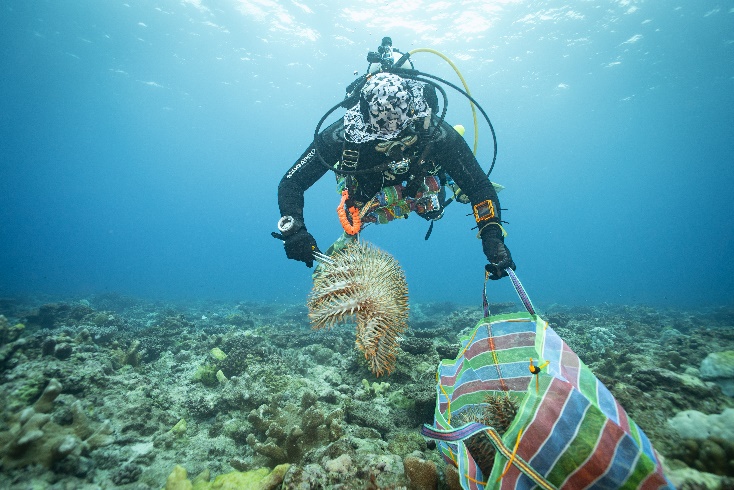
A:
[[[463,138],[463,128],[455,129],[444,120],[446,93],[432,80],[460,91],[480,109],[490,128],[491,122],[468,89],[464,92],[438,77],[403,68],[406,61],[413,66],[409,56],[392,48],[389,37],[383,38],[377,52],[368,54],[367,73],[324,115],[314,141],[281,179],[279,233],[272,235],[283,241],[289,259],[313,266],[321,255],[304,222],[304,193],[331,170],[342,194],[337,212],[344,234],[327,255],[356,239],[368,224],[407,218],[411,212],[431,221],[428,239],[433,221],[456,200],[471,203],[477,238],[489,262],[485,270],[490,279],[500,279],[507,275],[505,269],[515,269],[515,263],[504,244],[500,203],[489,180],[492,168],[485,174]],[[437,91],[443,98],[440,112]],[[347,109],[344,117],[320,131],[339,107]],[[446,186],[454,193],[449,200]]]

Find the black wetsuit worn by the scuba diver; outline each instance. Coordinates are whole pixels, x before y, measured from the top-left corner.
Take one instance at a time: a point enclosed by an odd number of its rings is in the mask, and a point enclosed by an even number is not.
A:
[[[434,117],[435,123],[436,118]],[[414,123],[416,126],[418,124],[422,124],[422,120]],[[415,192],[419,189],[419,185],[423,183],[423,177],[437,175],[441,179],[441,183],[445,184],[445,178],[448,176],[466,194],[472,205],[487,200],[492,201],[495,217],[484,221],[483,225],[489,221],[499,222],[500,206],[494,187],[464,138],[448,123],[444,122],[436,130],[437,134],[432,138],[428,152],[423,158],[425,163],[423,165],[418,164],[426,145],[429,144],[431,131],[431,129],[425,132],[409,128],[401,133],[401,136],[405,134],[418,135],[417,142],[404,151],[404,156],[411,157],[411,164],[410,169],[403,174],[396,174],[385,168],[392,158],[377,151],[376,145],[380,143],[379,140],[348,146],[347,148],[359,150],[357,170],[381,168],[380,171],[358,173],[352,176],[349,185],[351,202],[360,207],[372,199],[383,187],[398,185],[403,182],[406,183],[403,197],[415,197]],[[319,150],[322,152],[323,159],[329,165],[334,165],[340,161],[345,148],[343,121],[335,122],[322,131],[319,137]],[[280,181],[278,206],[280,207],[281,216],[293,216],[303,221],[304,192],[329,171],[319,161],[312,143]]]

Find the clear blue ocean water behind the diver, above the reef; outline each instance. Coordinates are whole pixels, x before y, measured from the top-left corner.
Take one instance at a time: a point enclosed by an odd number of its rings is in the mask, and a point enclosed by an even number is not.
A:
[[[536,303],[734,301],[730,2],[5,0],[0,294],[303,302],[278,181],[383,36],[461,70],[497,131],[506,243]],[[439,57],[416,67],[459,83]],[[449,90],[448,120],[468,102]],[[479,121],[478,158],[491,135]],[[306,195],[325,249],[333,176]],[[479,303],[468,207],[370,227],[413,300]],[[514,299],[507,279],[490,299]]]

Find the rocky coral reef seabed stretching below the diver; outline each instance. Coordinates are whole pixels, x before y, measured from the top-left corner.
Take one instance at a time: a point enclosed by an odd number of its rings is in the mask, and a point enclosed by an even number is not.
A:
[[[350,325],[313,331],[302,304],[103,295],[4,300],[0,315],[0,488],[226,488],[280,464],[284,489],[459,488],[418,429],[433,419],[436,365],[456,357],[476,307],[411,305],[389,382],[365,369]],[[734,349],[730,310],[554,305],[545,316],[677,485],[731,488],[734,401],[702,366]]]

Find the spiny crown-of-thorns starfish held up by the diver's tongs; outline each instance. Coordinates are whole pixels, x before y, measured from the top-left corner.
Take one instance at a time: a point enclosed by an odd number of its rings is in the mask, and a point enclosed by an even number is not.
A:
[[[408,286],[390,254],[354,242],[332,255],[314,277],[308,309],[316,329],[355,315],[356,344],[372,372],[393,371],[398,338],[407,329]]]

